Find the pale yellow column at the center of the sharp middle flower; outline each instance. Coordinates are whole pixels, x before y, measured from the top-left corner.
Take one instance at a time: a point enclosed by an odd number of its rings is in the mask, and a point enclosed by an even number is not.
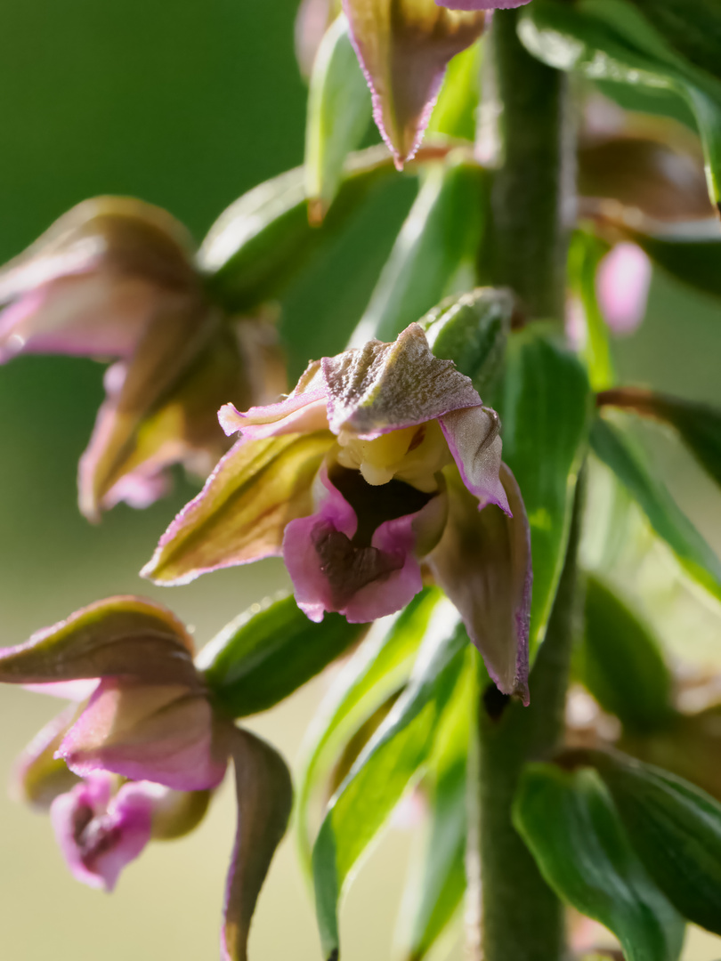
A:
[[[375,440],[361,440],[351,431],[340,431],[337,461],[358,470],[369,484],[405,480],[418,490],[437,489],[435,474],[453,459],[437,421],[384,433]]]

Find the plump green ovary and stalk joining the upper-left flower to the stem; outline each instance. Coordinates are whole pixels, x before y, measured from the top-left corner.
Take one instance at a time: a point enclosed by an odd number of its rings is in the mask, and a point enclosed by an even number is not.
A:
[[[354,154],[319,228],[309,223],[303,167],[243,194],[216,220],[198,252],[211,295],[230,311],[248,310],[276,297],[393,169],[385,147]]]

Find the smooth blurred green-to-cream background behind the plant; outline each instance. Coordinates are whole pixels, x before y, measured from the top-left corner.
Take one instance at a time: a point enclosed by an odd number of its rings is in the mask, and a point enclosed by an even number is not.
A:
[[[0,58],[0,259],[95,194],[169,209],[197,238],[247,188],[303,156],[305,86],[293,55],[297,0],[39,0],[7,5]],[[283,329],[297,373],[342,348],[412,199],[398,178],[376,195],[333,251],[286,294]],[[625,377],[721,403],[719,304],[657,278],[649,318],[618,345]],[[0,645],[17,643],[82,604],[135,592],[171,605],[199,643],[286,583],[280,564],[227,571],[172,591],[137,578],[158,535],[192,494],[145,512],[121,506],[98,527],[75,506],[75,471],[102,397],[102,368],[21,358],[0,369]],[[721,547],[717,492],[678,447],[654,438],[669,482]],[[717,613],[703,619],[717,640]],[[714,633],[715,631],[715,633]],[[709,645],[704,652],[710,651]],[[702,652],[702,656],[707,654]],[[712,652],[711,652],[712,653]],[[319,678],[255,727],[297,762]],[[0,772],[58,705],[0,691]],[[226,785],[190,838],[154,845],[112,898],[75,883],[47,819],[0,797],[0,956],[9,961],[211,961],[234,832]],[[389,957],[412,831],[391,829],[343,913],[347,961]],[[286,841],[251,937],[261,961],[319,956],[311,901]],[[449,947],[460,957],[458,947]],[[692,939],[710,961],[721,942]]]

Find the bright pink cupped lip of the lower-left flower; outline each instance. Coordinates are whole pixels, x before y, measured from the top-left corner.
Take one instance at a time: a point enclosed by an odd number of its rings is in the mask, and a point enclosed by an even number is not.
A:
[[[96,772],[53,801],[50,817],[72,874],[112,891],[122,869],[150,840],[153,785],[124,784],[111,799],[111,775]]]

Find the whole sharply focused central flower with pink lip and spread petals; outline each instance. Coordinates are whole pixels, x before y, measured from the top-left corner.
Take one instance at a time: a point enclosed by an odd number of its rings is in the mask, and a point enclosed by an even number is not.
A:
[[[245,413],[203,491],[143,575],[186,583],[282,554],[313,621],[365,623],[420,591],[421,565],[457,604],[491,677],[527,692],[529,531],[501,464],[499,420],[418,324],[393,343],[314,361],[293,392]],[[483,509],[482,509],[483,508]]]

